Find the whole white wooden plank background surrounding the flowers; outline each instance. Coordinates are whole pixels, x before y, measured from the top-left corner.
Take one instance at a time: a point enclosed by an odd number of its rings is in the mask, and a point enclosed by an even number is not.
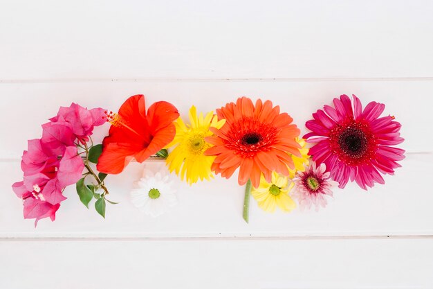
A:
[[[433,288],[433,2],[0,1],[0,288]],[[403,168],[320,211],[241,218],[236,179],[179,184],[160,218],[132,207],[143,164],[109,176],[103,220],[74,191],[37,229],[10,188],[59,105],[133,94],[185,116],[273,100],[302,132],[340,94],[403,124]],[[97,130],[102,140],[108,125]],[[160,166],[151,162],[145,166]]]

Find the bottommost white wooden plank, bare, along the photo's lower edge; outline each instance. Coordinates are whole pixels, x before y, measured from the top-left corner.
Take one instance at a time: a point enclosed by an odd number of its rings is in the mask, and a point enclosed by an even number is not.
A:
[[[432,239],[3,241],[0,287],[432,288]]]

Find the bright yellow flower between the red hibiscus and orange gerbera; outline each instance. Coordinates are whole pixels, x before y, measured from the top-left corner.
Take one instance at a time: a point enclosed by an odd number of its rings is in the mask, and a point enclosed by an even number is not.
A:
[[[194,105],[190,109],[190,125],[185,125],[181,118],[178,118],[176,126],[176,136],[169,143],[167,148],[176,146],[167,157],[167,165],[170,172],[173,170],[181,179],[185,179],[188,184],[193,184],[199,179],[210,180],[212,175],[211,166],[215,157],[205,156],[204,152],[212,145],[205,141],[205,137],[213,135],[209,128],[221,128],[225,119],[218,121],[218,117],[213,112],[209,112],[203,117],[203,113],[197,116]]]

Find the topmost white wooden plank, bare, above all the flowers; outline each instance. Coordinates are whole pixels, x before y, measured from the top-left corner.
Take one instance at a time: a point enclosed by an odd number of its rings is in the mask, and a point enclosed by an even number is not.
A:
[[[433,2],[2,1],[0,80],[432,77]]]

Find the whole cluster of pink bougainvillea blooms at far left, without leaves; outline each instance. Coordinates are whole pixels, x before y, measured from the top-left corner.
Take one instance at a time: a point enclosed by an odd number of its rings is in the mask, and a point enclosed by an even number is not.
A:
[[[106,122],[105,110],[86,110],[73,103],[60,107],[57,116],[42,125],[42,139],[28,141],[21,159],[22,182],[12,185],[24,204],[24,218],[55,220],[60,202],[66,200],[63,190],[82,177],[84,162],[75,141],[89,140],[93,127]]]

